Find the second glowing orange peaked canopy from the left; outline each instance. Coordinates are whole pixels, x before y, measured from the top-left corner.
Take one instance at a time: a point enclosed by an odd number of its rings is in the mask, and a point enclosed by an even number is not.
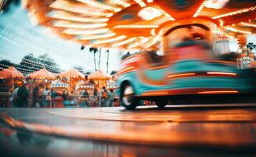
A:
[[[31,79],[55,79],[56,75],[52,72],[47,71],[46,68],[42,68],[41,70],[35,71],[27,76],[27,78]]]

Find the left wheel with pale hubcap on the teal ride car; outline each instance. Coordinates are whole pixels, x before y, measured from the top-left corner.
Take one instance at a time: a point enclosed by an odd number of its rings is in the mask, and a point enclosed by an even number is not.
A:
[[[123,87],[122,93],[121,93],[121,99],[120,103],[123,107],[125,107],[127,110],[133,110],[137,107],[139,100],[137,100],[134,93],[133,86],[130,86],[129,84]]]

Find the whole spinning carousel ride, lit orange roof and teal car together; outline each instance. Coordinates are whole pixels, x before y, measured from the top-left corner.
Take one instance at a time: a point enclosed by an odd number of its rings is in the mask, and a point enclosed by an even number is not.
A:
[[[254,34],[254,1],[28,0],[24,5],[34,24],[82,46],[163,52],[152,57],[158,63],[147,63],[150,53],[122,61],[119,96],[127,109],[135,108],[138,98],[158,96],[157,105],[164,107],[170,95],[254,93],[255,83],[248,79],[254,72],[216,61],[207,48],[219,36],[240,43]]]

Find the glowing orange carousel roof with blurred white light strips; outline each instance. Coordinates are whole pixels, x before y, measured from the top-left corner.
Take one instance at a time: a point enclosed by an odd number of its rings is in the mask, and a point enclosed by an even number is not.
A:
[[[254,0],[27,0],[34,24],[88,46],[152,45],[163,27],[181,20],[212,21],[233,35],[255,33]]]

